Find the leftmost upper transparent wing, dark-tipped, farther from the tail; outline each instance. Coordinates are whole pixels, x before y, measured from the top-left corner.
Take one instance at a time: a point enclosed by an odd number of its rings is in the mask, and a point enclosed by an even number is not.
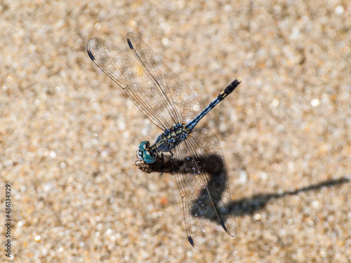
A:
[[[159,86],[143,67],[102,39],[89,40],[87,50],[95,65],[123,88],[147,119],[162,130],[170,127],[168,102],[164,101]]]

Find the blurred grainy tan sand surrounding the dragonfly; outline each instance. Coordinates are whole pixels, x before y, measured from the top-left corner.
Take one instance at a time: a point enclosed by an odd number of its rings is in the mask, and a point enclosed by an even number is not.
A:
[[[350,1],[4,0],[0,15],[14,262],[351,262]],[[218,226],[207,252],[172,175],[133,166],[160,130],[86,53],[98,36],[133,58],[128,31],[202,107],[243,79],[199,125],[237,207],[237,237]]]

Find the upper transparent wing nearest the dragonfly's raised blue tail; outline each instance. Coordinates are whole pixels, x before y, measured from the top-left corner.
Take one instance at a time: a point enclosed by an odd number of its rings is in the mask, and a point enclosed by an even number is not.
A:
[[[127,41],[135,56],[143,65],[155,85],[158,86],[161,97],[165,102],[165,106],[170,107],[170,116],[177,122],[190,121],[201,112],[201,105],[192,90],[181,81],[178,76],[167,67],[154,50],[147,46],[140,37],[133,32],[128,32]],[[169,116],[165,116],[169,119]],[[174,122],[171,123],[172,126]]]

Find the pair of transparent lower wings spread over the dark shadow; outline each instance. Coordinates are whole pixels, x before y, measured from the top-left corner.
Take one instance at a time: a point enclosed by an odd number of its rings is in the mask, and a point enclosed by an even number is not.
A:
[[[187,236],[194,248],[210,248],[214,222],[236,236],[227,171],[216,135],[206,128],[195,129],[174,149],[172,165],[183,199]]]

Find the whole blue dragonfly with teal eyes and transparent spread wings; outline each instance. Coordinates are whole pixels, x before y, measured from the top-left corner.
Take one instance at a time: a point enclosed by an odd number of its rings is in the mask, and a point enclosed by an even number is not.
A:
[[[241,83],[237,78],[203,110],[192,90],[168,68],[137,34],[126,39],[138,62],[116,46],[93,38],[88,55],[102,72],[122,88],[136,107],[161,134],[154,144],[140,142],[140,168],[149,172],[166,169],[166,154],[183,201],[187,239],[199,251],[211,247],[213,230],[220,224],[232,238],[237,222],[216,135],[197,123]],[[155,166],[159,163],[159,166]],[[146,168],[146,169],[145,169]]]

